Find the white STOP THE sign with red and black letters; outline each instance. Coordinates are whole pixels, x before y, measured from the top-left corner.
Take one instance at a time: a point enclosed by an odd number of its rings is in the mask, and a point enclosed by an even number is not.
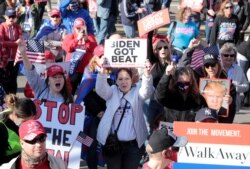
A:
[[[79,104],[34,100],[36,119],[46,129],[46,149],[50,155],[61,158],[67,168],[79,168],[82,144],[76,142],[83,129],[85,108]]]

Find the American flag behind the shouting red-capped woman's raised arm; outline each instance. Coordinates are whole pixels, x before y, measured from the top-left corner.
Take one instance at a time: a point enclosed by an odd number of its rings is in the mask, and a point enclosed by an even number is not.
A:
[[[31,63],[41,63],[45,64],[45,55],[44,55],[44,43],[40,40],[27,40],[26,41],[26,54]],[[14,65],[23,60],[20,51],[17,49],[16,58]]]

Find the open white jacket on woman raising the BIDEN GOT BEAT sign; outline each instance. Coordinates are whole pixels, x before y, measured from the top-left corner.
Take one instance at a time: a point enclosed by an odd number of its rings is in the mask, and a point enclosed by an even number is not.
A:
[[[124,98],[131,104],[134,118],[134,128],[136,132],[136,141],[138,147],[141,147],[147,139],[148,132],[143,116],[143,103],[146,99],[153,95],[153,78],[152,76],[142,76],[141,86],[136,85],[124,96]],[[110,133],[115,112],[120,106],[120,100],[123,93],[116,85],[109,86],[107,82],[107,75],[98,74],[96,80],[96,93],[106,100],[107,109],[100,121],[97,130],[97,140],[101,144],[106,143],[106,139]]]

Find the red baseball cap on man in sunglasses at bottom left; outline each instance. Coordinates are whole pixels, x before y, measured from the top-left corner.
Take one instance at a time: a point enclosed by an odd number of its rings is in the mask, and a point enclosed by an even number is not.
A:
[[[28,120],[19,127],[19,136],[22,140],[31,141],[40,134],[46,134],[45,128],[37,120]]]

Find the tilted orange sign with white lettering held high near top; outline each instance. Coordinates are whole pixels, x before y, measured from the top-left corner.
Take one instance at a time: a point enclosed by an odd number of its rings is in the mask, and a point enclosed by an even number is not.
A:
[[[170,19],[168,9],[163,9],[147,15],[137,22],[139,36],[141,37],[144,34],[169,23]]]

